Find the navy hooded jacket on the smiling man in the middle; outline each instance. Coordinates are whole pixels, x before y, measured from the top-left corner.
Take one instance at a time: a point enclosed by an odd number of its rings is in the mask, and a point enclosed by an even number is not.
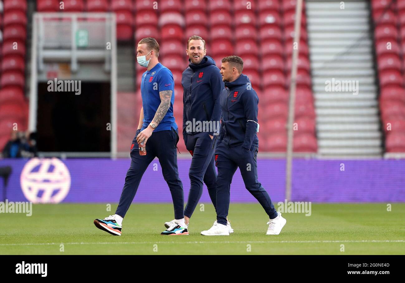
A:
[[[206,129],[207,133],[214,135],[219,132],[219,121],[221,117],[220,95],[224,89],[224,82],[220,69],[215,65],[215,61],[204,56],[201,63],[196,65],[190,63],[184,70],[181,77],[183,86],[183,135],[185,133],[194,135],[194,129],[186,132],[187,122],[193,125],[195,122],[212,121],[211,129]],[[211,123],[209,123],[211,124]],[[207,124],[206,124],[207,125]],[[201,129],[202,130],[202,129]],[[215,131],[214,131],[215,130]]]

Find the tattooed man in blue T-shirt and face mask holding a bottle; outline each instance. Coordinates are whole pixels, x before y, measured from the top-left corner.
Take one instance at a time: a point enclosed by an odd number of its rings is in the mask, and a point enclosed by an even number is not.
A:
[[[177,170],[179,135],[173,116],[174,81],[172,72],[158,61],[159,44],[154,38],[143,38],[136,49],[139,65],[147,68],[142,74],[142,108],[138,130],[131,145],[131,165],[125,178],[119,205],[114,215],[95,219],[97,228],[121,236],[122,220],[136,194],[139,183],[151,161],[157,157],[162,166],[173,199],[175,220],[162,235],[187,235],[184,222],[183,184]],[[139,148],[146,148],[141,155]]]

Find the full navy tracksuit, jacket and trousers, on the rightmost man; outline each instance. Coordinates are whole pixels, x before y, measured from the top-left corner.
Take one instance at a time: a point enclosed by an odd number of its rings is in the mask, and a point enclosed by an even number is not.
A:
[[[238,167],[247,190],[259,201],[270,219],[276,218],[277,211],[269,194],[257,180],[259,140],[256,122],[259,99],[249,78],[241,74],[233,82],[225,82],[220,103],[222,123],[215,150],[215,164],[218,168],[217,221],[224,225],[227,223],[230,184]]]

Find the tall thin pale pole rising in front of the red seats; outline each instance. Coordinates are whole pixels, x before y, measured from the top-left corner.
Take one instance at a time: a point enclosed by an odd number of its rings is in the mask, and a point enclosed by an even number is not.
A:
[[[286,152],[286,199],[291,199],[291,171],[292,171],[292,151],[294,149],[294,108],[295,108],[295,89],[296,77],[298,68],[298,48],[300,42],[301,31],[301,13],[302,13],[302,0],[297,0],[295,7],[295,22],[294,22],[294,42],[297,48],[292,49],[292,64],[291,64],[291,82],[290,82],[290,101],[288,107],[288,121],[287,121],[287,152]]]

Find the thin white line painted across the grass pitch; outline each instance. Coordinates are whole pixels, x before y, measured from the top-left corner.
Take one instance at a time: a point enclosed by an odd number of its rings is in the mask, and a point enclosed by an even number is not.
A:
[[[133,244],[242,244],[242,243],[405,243],[405,240],[342,240],[342,241],[223,241],[223,242],[104,242],[104,243],[15,243],[15,244],[0,244],[0,246],[31,246],[31,245],[133,245]]]

